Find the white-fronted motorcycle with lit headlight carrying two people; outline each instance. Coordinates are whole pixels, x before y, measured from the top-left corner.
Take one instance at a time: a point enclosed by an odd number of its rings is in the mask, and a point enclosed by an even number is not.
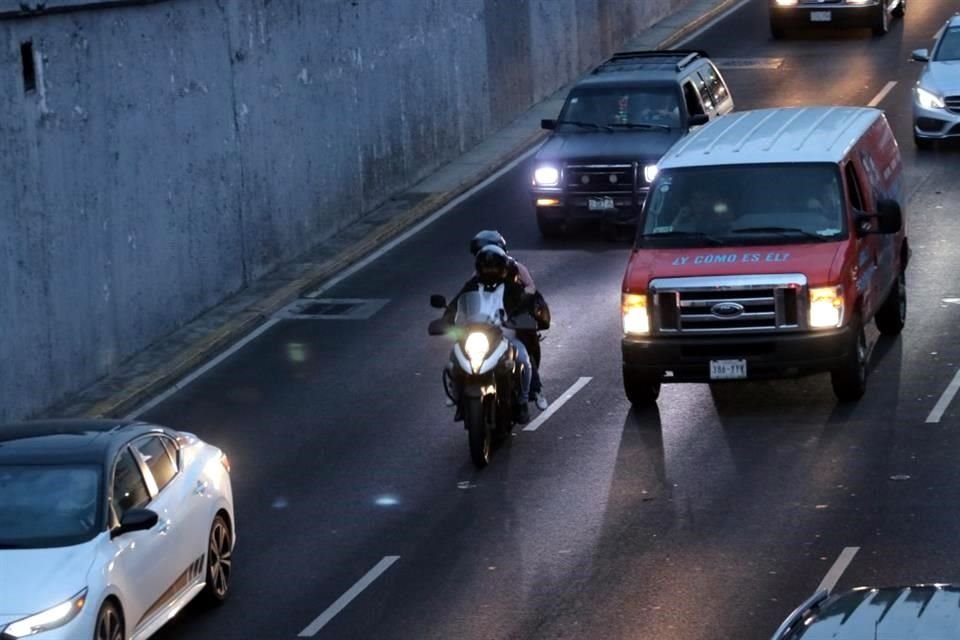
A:
[[[430,306],[446,309],[446,298],[430,296]],[[452,324],[445,318],[430,323],[430,335],[454,340],[443,386],[458,415],[463,416],[470,458],[479,469],[490,463],[495,442],[513,431],[521,402],[521,363],[508,336],[513,337],[517,330],[536,328],[532,316],[506,317],[503,285],[465,292],[457,300]]]

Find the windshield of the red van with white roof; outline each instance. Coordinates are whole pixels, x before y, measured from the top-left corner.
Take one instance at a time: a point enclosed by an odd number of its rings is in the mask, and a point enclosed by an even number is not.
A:
[[[644,206],[638,244],[826,242],[846,233],[839,175],[829,164],[664,170]]]

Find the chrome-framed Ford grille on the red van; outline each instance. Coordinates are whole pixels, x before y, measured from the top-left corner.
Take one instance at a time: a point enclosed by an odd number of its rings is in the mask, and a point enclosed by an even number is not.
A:
[[[806,284],[802,274],[654,280],[654,327],[684,334],[800,329]]]

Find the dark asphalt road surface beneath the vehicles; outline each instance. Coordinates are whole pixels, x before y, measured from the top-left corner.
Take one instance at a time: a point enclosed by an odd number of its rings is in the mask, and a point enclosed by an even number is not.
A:
[[[824,375],[665,386],[658,409],[631,411],[627,247],[589,230],[542,241],[523,163],[323,293],[386,299],[371,317],[280,322],[146,414],[229,452],[239,518],[233,599],[159,637],[292,639],[354,594],[315,637],[765,639],[848,548],[840,588],[960,581],[960,400],[926,422],[960,365],[960,305],[943,301],[960,298],[960,151],[915,152],[907,61],[953,10],[912,0],[883,38],[773,42],[753,0],[690,43],[753,59],[721,67],[741,109],[864,105],[897,83],[880,106],[912,194],[910,311],[876,344],[861,402],[838,405]],[[551,303],[548,395],[590,380],[476,472],[443,404],[449,345],[426,325],[481,228]]]

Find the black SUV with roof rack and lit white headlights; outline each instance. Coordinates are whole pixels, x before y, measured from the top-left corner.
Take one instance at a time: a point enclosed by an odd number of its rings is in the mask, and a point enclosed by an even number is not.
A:
[[[534,160],[532,195],[546,237],[575,219],[635,224],[657,162],[691,128],[733,110],[703,51],[625,51],[574,85]]]

